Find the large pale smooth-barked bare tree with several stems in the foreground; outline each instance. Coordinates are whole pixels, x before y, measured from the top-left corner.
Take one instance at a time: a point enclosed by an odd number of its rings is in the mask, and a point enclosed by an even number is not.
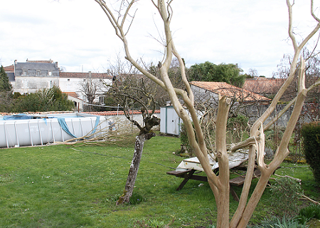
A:
[[[314,85],[309,88],[305,87],[304,83],[304,60],[301,59],[300,70],[299,70],[299,86],[297,90],[297,96],[292,100],[289,105],[284,108],[285,111],[291,105],[294,105],[292,116],[289,120],[286,130],[284,131],[284,135],[282,137],[279,146],[277,147],[277,152],[274,155],[274,159],[270,164],[265,164],[264,162],[264,147],[265,147],[265,134],[264,130],[270,128],[270,126],[277,120],[279,115],[274,118],[270,123],[263,125],[265,120],[270,116],[274,108],[276,108],[277,102],[283,95],[284,91],[287,90],[289,84],[292,82],[295,76],[295,72],[297,70],[297,62],[299,60],[299,56],[302,48],[306,45],[306,43],[311,39],[312,36],[319,30],[320,28],[320,19],[316,17],[314,14],[314,3],[311,1],[311,15],[316,21],[315,28],[309,33],[306,38],[302,41],[297,41],[294,36],[294,32],[292,31],[292,7],[294,4],[291,4],[289,0],[287,0],[287,7],[289,11],[289,38],[292,41],[294,46],[294,57],[292,58],[292,64],[290,67],[290,73],[287,78],[287,81],[282,85],[279,89],[277,95],[274,96],[272,103],[269,108],[261,115],[261,117],[255,121],[255,123],[250,128],[250,137],[247,140],[239,142],[233,147],[230,148],[230,152],[234,152],[242,147],[249,147],[249,159],[248,159],[248,167],[247,167],[247,175],[245,177],[245,182],[242,187],[242,194],[240,197],[240,202],[238,204],[238,209],[235,214],[233,214],[233,218],[229,220],[229,160],[228,160],[228,149],[226,145],[226,125],[228,120],[228,111],[230,108],[230,98],[226,98],[225,96],[220,96],[218,112],[215,118],[215,156],[218,158],[219,164],[219,173],[216,175],[213,170],[211,170],[211,166],[208,159],[206,142],[203,137],[203,131],[201,129],[201,125],[198,122],[197,110],[194,106],[194,96],[191,91],[191,87],[186,78],[184,63],[179,56],[178,51],[174,45],[174,39],[171,34],[170,24],[173,15],[173,10],[171,8],[172,1],[164,1],[164,0],[151,0],[156,9],[161,16],[163,27],[164,27],[164,39],[165,39],[165,56],[164,61],[159,64],[159,73],[161,76],[157,78],[152,75],[149,71],[146,71],[142,66],[140,66],[137,61],[132,58],[129,51],[129,46],[127,42],[127,30],[126,28],[130,28],[132,24],[132,20],[129,20],[130,10],[132,9],[133,4],[136,0],[132,1],[120,1],[120,8],[118,11],[112,11],[112,7],[107,5],[103,0],[95,0],[97,4],[100,4],[102,10],[105,11],[107,18],[110,20],[110,23],[114,27],[114,31],[117,36],[122,40],[124,44],[124,51],[126,54],[126,59],[130,61],[139,71],[141,71],[145,76],[150,78],[152,81],[161,86],[166,92],[169,94],[171,99],[171,103],[176,110],[178,116],[183,120],[183,123],[186,127],[186,132],[188,134],[189,143],[196,153],[198,160],[201,162],[203,170],[206,172],[208,177],[208,183],[210,185],[211,190],[213,191],[213,195],[215,196],[215,203],[218,209],[218,217],[217,217],[217,226],[218,228],[225,227],[246,227],[247,223],[252,216],[252,212],[255,210],[257,203],[259,202],[262,193],[265,190],[268,180],[270,176],[277,169],[277,167],[281,164],[285,157],[289,154],[287,149],[289,140],[291,138],[292,132],[294,130],[294,125],[297,123],[299,118],[299,113],[302,110],[302,105],[304,103],[304,99],[306,98],[306,93],[314,88],[314,86],[318,86],[320,81],[314,83]],[[117,15],[115,15],[117,14]],[[134,15],[134,14],[132,14]],[[129,25],[126,24],[129,23]],[[299,44],[298,44],[299,43]],[[171,60],[173,56],[178,58],[178,62],[181,66],[181,81],[183,81],[186,86],[186,90],[181,90],[179,88],[174,88],[172,85],[168,71],[171,64]],[[183,100],[181,103],[180,99]],[[183,105],[186,105],[188,108],[188,113]],[[281,114],[281,113],[280,113]],[[191,116],[191,118],[190,118]],[[193,122],[193,125],[192,125]],[[193,128],[194,127],[194,128]],[[252,195],[249,197],[249,190],[252,180],[252,175],[255,168],[255,160],[257,160],[258,167],[261,172],[261,177],[255,186],[255,190],[252,192]]]

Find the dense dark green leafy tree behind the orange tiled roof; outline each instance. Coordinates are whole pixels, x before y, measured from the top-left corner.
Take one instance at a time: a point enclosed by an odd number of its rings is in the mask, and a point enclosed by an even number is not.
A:
[[[195,64],[188,69],[190,81],[220,81],[238,87],[245,83],[245,75],[240,74],[241,72],[242,69],[236,64],[215,65],[209,61]]]

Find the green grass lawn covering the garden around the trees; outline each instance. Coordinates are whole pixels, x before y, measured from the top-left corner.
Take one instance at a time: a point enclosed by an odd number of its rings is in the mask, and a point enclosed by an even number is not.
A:
[[[116,206],[127,180],[133,145],[50,145],[0,150],[0,227],[206,227],[216,207],[208,183],[166,175],[183,159],[173,154],[179,138],[156,136],[144,145],[134,188],[138,204]],[[301,165],[300,165],[301,166]],[[305,166],[305,165],[302,165]],[[279,175],[303,180],[306,195],[319,200],[311,171],[284,164]],[[235,187],[240,194],[241,188]],[[265,190],[252,217],[270,216]],[[139,199],[139,200],[138,200]],[[230,197],[233,212],[237,202]]]

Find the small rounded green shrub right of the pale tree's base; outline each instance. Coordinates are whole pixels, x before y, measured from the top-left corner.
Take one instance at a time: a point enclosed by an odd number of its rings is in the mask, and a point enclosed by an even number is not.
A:
[[[296,211],[299,195],[303,190],[299,183],[292,178],[280,178],[271,186],[272,199],[271,204],[275,212],[280,216],[291,214]]]

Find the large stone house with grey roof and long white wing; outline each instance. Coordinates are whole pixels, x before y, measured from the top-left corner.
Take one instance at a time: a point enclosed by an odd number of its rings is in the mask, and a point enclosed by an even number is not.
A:
[[[49,61],[14,61],[11,66],[4,67],[14,93],[36,93],[38,90],[59,86],[63,93],[75,103],[76,110],[83,109],[83,103],[87,102],[83,91],[85,83],[92,83],[96,86],[95,103],[104,103],[104,95],[108,88],[105,84],[112,84],[112,76],[108,73],[72,73],[61,72],[58,62]]]

